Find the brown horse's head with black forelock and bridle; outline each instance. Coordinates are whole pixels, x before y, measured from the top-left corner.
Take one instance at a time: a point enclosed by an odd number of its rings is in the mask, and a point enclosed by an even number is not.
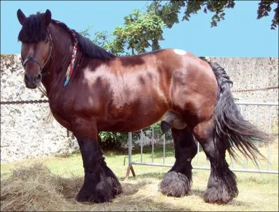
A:
[[[51,17],[50,10],[29,17],[17,10],[17,18],[22,24],[18,40],[22,42],[24,82],[29,89],[36,89],[42,80],[43,68],[51,59],[52,37],[47,29]]]

